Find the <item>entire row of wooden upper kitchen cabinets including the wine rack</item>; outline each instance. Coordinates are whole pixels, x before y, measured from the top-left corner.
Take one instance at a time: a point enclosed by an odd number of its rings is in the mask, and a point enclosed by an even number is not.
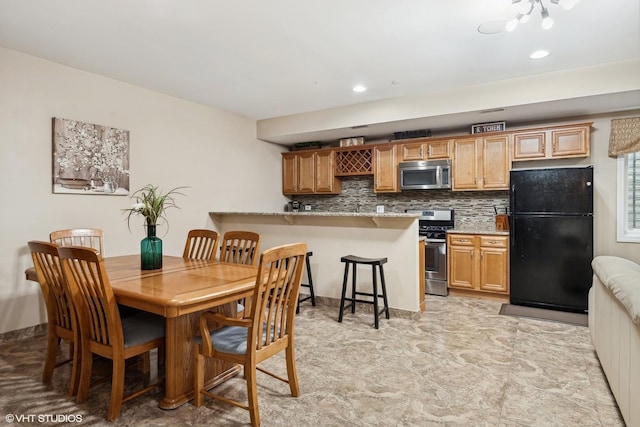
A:
[[[453,191],[508,190],[512,161],[590,155],[592,123],[395,140],[282,154],[285,195],[339,194],[340,177],[373,175],[376,193],[400,191],[398,163],[451,159]]]

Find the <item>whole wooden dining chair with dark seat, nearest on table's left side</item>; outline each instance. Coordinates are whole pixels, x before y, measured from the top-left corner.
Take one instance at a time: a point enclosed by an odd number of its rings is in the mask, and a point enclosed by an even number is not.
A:
[[[77,401],[87,400],[93,355],[111,359],[113,369],[107,420],[113,421],[120,416],[122,403],[161,384],[152,384],[123,397],[125,360],[147,354],[155,348],[159,351],[164,349],[165,319],[146,312],[121,319],[104,261],[96,249],[66,246],[59,247],[58,254],[80,326]]]

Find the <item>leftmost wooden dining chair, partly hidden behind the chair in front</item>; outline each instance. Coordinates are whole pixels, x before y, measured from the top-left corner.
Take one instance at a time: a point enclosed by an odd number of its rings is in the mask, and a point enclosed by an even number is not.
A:
[[[74,396],[78,391],[80,341],[76,314],[58,257],[58,246],[37,240],[30,241],[28,245],[47,309],[47,353],[42,382],[50,382],[55,368],[71,362],[69,395]],[[70,358],[56,363],[60,340],[69,343]]]

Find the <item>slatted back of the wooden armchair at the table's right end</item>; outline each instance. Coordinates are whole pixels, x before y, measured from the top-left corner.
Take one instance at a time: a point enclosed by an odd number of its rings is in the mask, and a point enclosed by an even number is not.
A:
[[[293,243],[260,256],[250,315],[256,333],[251,334],[249,348],[260,350],[293,333],[306,253],[305,243]]]

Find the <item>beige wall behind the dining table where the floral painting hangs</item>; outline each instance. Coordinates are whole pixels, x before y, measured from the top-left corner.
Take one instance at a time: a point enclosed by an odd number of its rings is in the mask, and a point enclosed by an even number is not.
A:
[[[168,213],[165,252],[181,255],[191,228],[213,227],[211,210],[282,210],[282,148],[255,137],[255,121],[0,48],[0,333],[46,322],[26,246],[49,232],[96,227],[108,255],[135,253],[123,196],[51,192],[51,118],[130,131],[131,189],[190,186]],[[159,230],[162,235],[166,229]]]

